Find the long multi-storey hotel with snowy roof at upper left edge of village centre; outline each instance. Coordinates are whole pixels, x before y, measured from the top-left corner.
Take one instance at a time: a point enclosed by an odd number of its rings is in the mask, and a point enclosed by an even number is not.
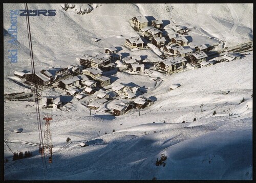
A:
[[[105,65],[111,63],[111,55],[109,54],[100,54],[95,57],[81,57],[80,65],[89,68],[89,67],[97,67],[101,68]]]

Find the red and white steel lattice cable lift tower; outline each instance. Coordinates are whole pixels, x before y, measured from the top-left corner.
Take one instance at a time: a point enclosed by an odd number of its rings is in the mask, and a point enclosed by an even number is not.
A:
[[[43,118],[46,120],[46,129],[45,129],[45,136],[44,136],[44,150],[45,155],[49,156],[49,163],[52,163],[52,141],[51,141],[51,130],[50,130],[50,120],[52,117],[44,116]]]

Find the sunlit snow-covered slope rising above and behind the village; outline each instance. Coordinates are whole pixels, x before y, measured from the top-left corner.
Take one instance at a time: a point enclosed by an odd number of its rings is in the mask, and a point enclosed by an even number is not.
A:
[[[195,44],[214,43],[207,37],[226,41],[226,46],[252,40],[252,4],[92,4],[93,10],[78,15],[74,9],[63,10],[63,4],[29,4],[31,10],[56,9],[56,16],[30,16],[31,36],[36,66],[67,65],[86,50],[101,50],[110,45],[121,46],[124,38],[136,36],[129,19],[137,15],[148,20],[163,20],[167,32],[175,24],[185,25]],[[77,5],[79,6],[79,5]],[[84,4],[84,7],[87,7]],[[82,7],[84,9],[84,7]],[[24,9],[24,4],[4,4],[4,30],[10,28],[10,10]],[[17,17],[18,63],[14,69],[30,67],[26,17]],[[195,29],[194,29],[195,28]],[[200,36],[203,35],[202,37]],[[92,38],[100,39],[94,42]],[[9,67],[8,34],[4,35],[4,61]],[[200,40],[200,41],[199,41]],[[203,42],[202,42],[203,41]],[[53,62],[53,59],[60,59]],[[38,68],[39,69],[39,68]]]

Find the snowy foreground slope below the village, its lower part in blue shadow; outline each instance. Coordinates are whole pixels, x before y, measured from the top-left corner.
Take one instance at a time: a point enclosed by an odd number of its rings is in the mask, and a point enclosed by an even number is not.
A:
[[[41,110],[53,115],[53,163],[47,163],[46,175],[36,146],[34,102],[7,100],[5,140],[13,151],[30,150],[33,156],[5,163],[5,179],[252,179],[252,62],[250,53],[241,60],[173,75],[154,73],[162,79],[156,87],[140,76],[146,96],[157,98],[140,116],[135,109],[112,116],[104,105],[90,116],[82,101],[72,97],[69,111]],[[136,83],[136,77],[123,73],[116,77]],[[181,86],[170,91],[177,83]],[[23,132],[15,134],[17,128]],[[87,141],[89,146],[79,146]],[[167,157],[164,167],[155,164],[161,154]],[[11,157],[5,145],[5,158]]]

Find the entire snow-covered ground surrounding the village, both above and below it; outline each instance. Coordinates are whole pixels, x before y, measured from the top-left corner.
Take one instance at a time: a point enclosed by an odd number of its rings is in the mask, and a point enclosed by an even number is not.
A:
[[[76,4],[79,6],[79,4]],[[136,36],[129,19],[136,15],[154,16],[195,27],[191,37],[204,33],[203,43],[226,41],[226,45],[252,40],[252,4],[102,4],[84,15],[75,9],[67,12],[60,4],[29,4],[31,9],[56,9],[56,17],[31,17],[31,35],[36,69],[79,64],[83,54],[103,51],[114,45],[127,56],[160,58],[152,50],[131,51],[124,46],[126,37]],[[166,11],[166,7],[173,10]],[[23,4],[4,4],[4,29],[9,27],[10,9]],[[83,6],[87,7],[87,4]],[[84,8],[85,9],[85,8]],[[184,13],[179,13],[184,10]],[[191,11],[190,11],[191,10]],[[247,17],[247,18],[246,18]],[[23,17],[22,17],[23,18]],[[9,64],[4,35],[5,94],[28,92],[15,83],[14,70],[30,70],[26,21],[18,17],[18,63]],[[204,21],[203,21],[204,20]],[[172,31],[172,24],[166,31]],[[206,37],[215,37],[216,40]],[[100,39],[99,42],[92,38]],[[194,37],[193,37],[194,39]],[[197,44],[196,40],[195,43]],[[193,45],[191,44],[191,45]],[[53,61],[53,59],[56,59]],[[51,136],[53,162],[46,165],[38,152],[39,137],[34,101],[4,101],[4,139],[13,152],[29,150],[32,157],[12,161],[5,144],[5,180],[251,180],[252,179],[252,51],[241,60],[166,75],[148,69],[152,74],[117,72],[112,83],[136,84],[154,96],[152,106],[131,109],[121,116],[105,110],[124,99],[99,104],[90,111],[86,101],[63,96],[60,89],[40,91],[41,96],[61,95],[69,101],[62,109],[42,109],[52,115]],[[13,79],[10,80],[9,78]],[[15,80],[22,83],[22,81]],[[172,84],[180,87],[170,90]],[[225,92],[230,91],[228,94]],[[241,104],[240,101],[245,99]],[[201,104],[203,109],[201,112]],[[214,111],[216,112],[213,115]],[[196,121],[194,121],[196,118]],[[183,122],[184,121],[184,122]],[[23,128],[22,133],[14,133]],[[115,129],[115,130],[113,130]],[[113,132],[115,131],[115,132]],[[44,136],[44,134],[42,134]],[[66,142],[67,138],[70,142]],[[84,142],[89,146],[81,147]],[[166,160],[160,166],[161,156]]]

